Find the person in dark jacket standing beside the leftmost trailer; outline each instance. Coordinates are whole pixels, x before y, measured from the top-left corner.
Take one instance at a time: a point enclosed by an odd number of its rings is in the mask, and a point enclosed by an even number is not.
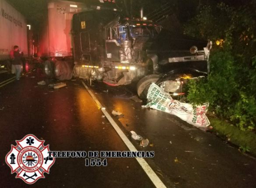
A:
[[[14,52],[12,57],[12,69],[15,71],[16,80],[20,80],[21,76],[21,57],[23,56],[23,52],[19,51],[19,47],[17,45],[14,46]]]

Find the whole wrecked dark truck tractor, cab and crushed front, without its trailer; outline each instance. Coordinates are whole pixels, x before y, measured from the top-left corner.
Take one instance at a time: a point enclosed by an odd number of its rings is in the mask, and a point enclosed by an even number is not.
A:
[[[172,37],[142,11],[140,18],[130,19],[118,11],[92,8],[74,14],[71,33],[75,77],[109,86],[138,82],[140,98],[153,82],[181,95],[183,80],[209,72],[210,41]]]

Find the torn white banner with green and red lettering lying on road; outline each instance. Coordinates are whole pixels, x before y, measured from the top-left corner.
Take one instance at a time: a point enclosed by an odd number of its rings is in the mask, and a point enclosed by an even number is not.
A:
[[[154,83],[149,87],[147,99],[148,104],[142,106],[143,108],[150,107],[176,115],[182,120],[197,127],[207,127],[210,125],[210,122],[206,117],[209,103],[204,103],[203,105],[193,108],[191,104],[182,103],[172,99],[170,94],[161,90],[161,88]]]

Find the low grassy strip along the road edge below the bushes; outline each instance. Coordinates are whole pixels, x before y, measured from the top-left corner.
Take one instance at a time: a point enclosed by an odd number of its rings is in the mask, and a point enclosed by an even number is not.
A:
[[[228,142],[239,146],[242,152],[248,152],[256,157],[256,134],[252,131],[242,131],[234,125],[217,119],[209,118],[213,132]]]

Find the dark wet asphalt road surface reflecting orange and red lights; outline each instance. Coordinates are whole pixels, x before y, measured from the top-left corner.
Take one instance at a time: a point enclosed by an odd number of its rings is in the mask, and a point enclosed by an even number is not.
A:
[[[154,187],[134,158],[108,159],[107,167],[85,167],[81,158],[57,158],[50,174],[34,185],[15,179],[4,157],[11,144],[27,134],[46,140],[50,150],[128,150],[81,80],[53,90],[36,84],[42,79],[39,73],[29,73],[0,88],[0,187]],[[134,93],[128,87],[90,88],[110,114],[124,114],[113,118],[138,150],[155,151],[155,157],[146,161],[167,187],[255,187],[256,160],[237,148],[172,115],[141,108],[141,102],[129,98]],[[140,147],[130,138],[131,130],[148,138],[151,146]]]

